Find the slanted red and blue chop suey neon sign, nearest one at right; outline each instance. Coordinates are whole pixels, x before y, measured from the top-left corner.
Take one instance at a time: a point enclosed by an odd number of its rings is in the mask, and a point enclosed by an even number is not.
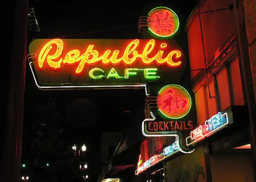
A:
[[[227,113],[219,112],[205,121],[203,125],[198,126],[190,132],[190,136],[186,138],[187,146],[210,136],[227,124],[229,124]]]

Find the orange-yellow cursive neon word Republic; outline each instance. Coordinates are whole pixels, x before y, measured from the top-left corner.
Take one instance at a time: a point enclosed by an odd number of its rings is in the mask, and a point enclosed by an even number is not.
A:
[[[55,52],[50,54],[49,52],[51,49],[53,49],[54,45],[56,45],[56,50],[54,49]],[[119,58],[117,58],[118,55],[120,55],[119,50],[112,51],[112,55],[110,55],[111,50],[106,50],[102,55],[99,55],[99,52],[93,49],[94,45],[88,45],[85,53],[80,54],[80,51],[77,49],[70,50],[66,54],[65,58],[62,59],[60,58],[60,56],[62,55],[64,44],[61,39],[53,39],[47,42],[40,51],[38,57],[38,65],[40,68],[42,68],[45,63],[45,60],[47,60],[47,63],[50,67],[58,69],[61,67],[62,63],[79,63],[75,72],[80,73],[82,72],[85,64],[93,64],[98,61],[102,61],[103,64],[115,64],[121,61],[123,61],[126,64],[131,64],[137,58],[141,58],[142,62],[145,64],[150,64],[153,61],[156,61],[158,64],[167,63],[169,66],[172,67],[179,66],[181,64],[181,61],[173,61],[174,56],[176,58],[181,57],[181,52],[179,50],[173,50],[170,53],[168,53],[168,55],[165,58],[163,58],[163,48],[167,47],[166,43],[162,43],[160,45],[161,49],[157,52],[155,56],[151,58],[149,58],[148,55],[155,48],[155,40],[151,39],[149,42],[147,42],[141,54],[139,54],[138,51],[136,50],[138,45],[138,39],[131,41],[130,44],[128,44],[128,46],[126,47],[125,51],[123,52],[123,55]]]

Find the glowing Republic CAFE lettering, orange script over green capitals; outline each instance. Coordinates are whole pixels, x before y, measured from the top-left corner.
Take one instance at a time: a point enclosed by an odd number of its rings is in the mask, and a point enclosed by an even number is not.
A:
[[[43,45],[39,56],[38,56],[38,66],[43,69],[46,64],[53,68],[54,70],[60,69],[64,65],[76,65],[75,73],[80,74],[84,67],[91,66],[94,63],[102,64],[117,64],[124,63],[130,65],[138,60],[142,63],[148,65],[153,62],[157,64],[167,64],[171,67],[178,67],[181,65],[182,53],[179,50],[171,50],[170,52],[165,52],[166,43],[160,44],[160,47],[155,45],[155,40],[150,39],[145,46],[142,45],[143,49],[138,49],[141,47],[140,40],[132,40],[124,49],[123,52],[120,50],[105,50],[103,53],[99,53],[96,46],[90,44],[86,47],[84,52],[80,52],[78,49],[69,50],[67,53],[63,53],[65,47],[61,39],[53,39]],[[159,46],[159,45],[158,45]],[[157,51],[158,50],[158,51]],[[154,54],[153,54],[154,53]],[[152,55],[153,54],[153,55]],[[136,75],[137,72],[143,71],[146,79],[159,78],[157,75],[157,68],[127,68],[124,71],[124,76],[121,77],[114,67],[112,67],[108,74],[104,74],[104,70],[98,67],[90,69],[88,75],[93,79],[100,78],[129,78],[131,75]]]

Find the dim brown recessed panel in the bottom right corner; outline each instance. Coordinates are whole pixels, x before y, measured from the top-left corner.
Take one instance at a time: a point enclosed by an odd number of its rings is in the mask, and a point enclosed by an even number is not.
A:
[[[210,156],[210,161],[213,182],[253,181],[250,152],[215,154]]]

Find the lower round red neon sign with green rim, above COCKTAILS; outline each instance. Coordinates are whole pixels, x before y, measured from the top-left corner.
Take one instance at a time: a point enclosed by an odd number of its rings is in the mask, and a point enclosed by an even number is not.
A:
[[[191,97],[182,86],[166,85],[158,92],[157,107],[167,118],[179,119],[189,113]]]

